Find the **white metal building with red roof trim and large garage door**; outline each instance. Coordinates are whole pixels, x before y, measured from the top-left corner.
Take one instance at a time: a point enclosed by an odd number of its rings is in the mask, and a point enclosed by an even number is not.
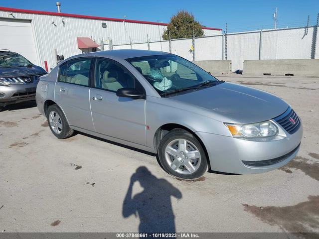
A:
[[[159,41],[166,23],[87,16],[0,7],[0,49],[18,52],[32,63],[48,70],[57,64],[56,56],[80,54],[78,37],[89,37],[100,45]],[[160,29],[160,34],[159,34]],[[221,34],[219,28],[204,27],[205,35]]]

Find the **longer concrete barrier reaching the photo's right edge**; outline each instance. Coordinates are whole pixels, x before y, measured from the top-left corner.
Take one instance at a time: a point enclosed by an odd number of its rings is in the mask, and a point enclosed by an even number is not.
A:
[[[245,60],[243,74],[319,76],[319,59]]]

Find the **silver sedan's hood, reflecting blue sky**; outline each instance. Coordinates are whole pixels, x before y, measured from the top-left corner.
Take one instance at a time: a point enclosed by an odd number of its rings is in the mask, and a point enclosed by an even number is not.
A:
[[[233,123],[273,119],[289,107],[285,101],[268,92],[226,82],[169,98],[208,110],[219,121]]]

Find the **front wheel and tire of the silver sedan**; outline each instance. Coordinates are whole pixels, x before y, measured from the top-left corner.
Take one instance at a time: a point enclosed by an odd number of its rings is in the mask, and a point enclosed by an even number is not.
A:
[[[200,142],[181,128],[169,131],[162,138],[159,161],[167,173],[180,179],[194,180],[208,170],[206,154]]]

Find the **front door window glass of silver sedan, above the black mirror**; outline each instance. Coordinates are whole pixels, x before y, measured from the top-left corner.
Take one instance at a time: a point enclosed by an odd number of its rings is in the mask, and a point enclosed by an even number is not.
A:
[[[114,92],[122,88],[142,88],[126,69],[113,61],[104,59],[96,61],[95,87]]]

